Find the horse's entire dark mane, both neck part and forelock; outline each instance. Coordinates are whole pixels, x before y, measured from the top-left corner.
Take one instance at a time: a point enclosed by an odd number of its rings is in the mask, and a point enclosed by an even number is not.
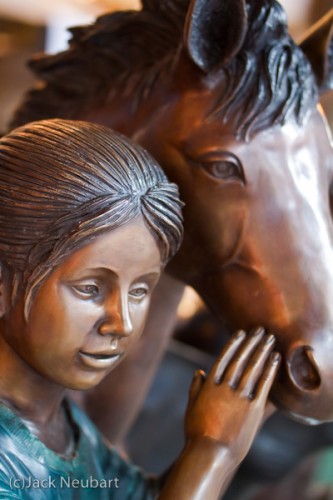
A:
[[[40,81],[11,126],[51,117],[75,119],[120,94],[138,105],[170,71],[188,5],[189,0],[143,0],[141,11],[107,14],[91,26],[72,28],[68,50],[30,61]],[[248,1],[247,11],[243,48],[222,68],[227,88],[211,110],[240,136],[291,115],[302,121],[317,100],[310,65],[287,33],[280,4]]]

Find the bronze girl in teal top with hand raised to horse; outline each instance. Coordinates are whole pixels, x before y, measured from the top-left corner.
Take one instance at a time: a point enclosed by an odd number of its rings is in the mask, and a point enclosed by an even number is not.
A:
[[[140,336],[181,242],[177,187],[124,136],[65,120],[4,136],[0,179],[0,496],[219,498],[264,417],[274,335],[240,331],[207,378],[197,372],[165,486],[65,398],[98,384]]]

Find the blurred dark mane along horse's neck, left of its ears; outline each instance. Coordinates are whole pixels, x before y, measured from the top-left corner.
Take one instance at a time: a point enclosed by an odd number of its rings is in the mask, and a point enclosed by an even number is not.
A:
[[[143,0],[141,11],[106,14],[92,25],[71,28],[66,51],[38,54],[29,62],[39,82],[11,126],[51,117],[76,118],[119,89],[140,100],[179,46],[188,4],[189,0]]]

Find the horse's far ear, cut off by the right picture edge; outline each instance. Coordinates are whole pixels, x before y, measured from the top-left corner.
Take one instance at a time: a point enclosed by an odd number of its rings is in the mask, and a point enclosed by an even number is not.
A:
[[[310,28],[299,46],[310,61],[319,91],[333,89],[333,9]]]

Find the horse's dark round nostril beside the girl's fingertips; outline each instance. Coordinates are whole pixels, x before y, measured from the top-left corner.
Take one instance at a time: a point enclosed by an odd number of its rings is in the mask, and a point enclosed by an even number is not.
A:
[[[288,359],[288,371],[294,384],[303,391],[318,389],[321,380],[312,349],[302,346],[295,349]]]

